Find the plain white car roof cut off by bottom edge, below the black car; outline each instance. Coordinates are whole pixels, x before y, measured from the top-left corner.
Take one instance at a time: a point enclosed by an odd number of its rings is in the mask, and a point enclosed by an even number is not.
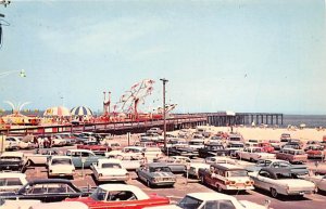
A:
[[[30,206],[28,209],[89,209],[86,204],[80,201],[58,201],[58,203],[40,203]]]

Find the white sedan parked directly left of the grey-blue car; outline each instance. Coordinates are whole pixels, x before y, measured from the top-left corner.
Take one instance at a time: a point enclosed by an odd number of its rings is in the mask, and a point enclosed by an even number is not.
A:
[[[97,182],[128,181],[129,173],[118,159],[99,159],[90,166]]]

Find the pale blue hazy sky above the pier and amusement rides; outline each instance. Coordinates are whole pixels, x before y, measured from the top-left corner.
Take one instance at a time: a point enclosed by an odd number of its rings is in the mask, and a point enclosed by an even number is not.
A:
[[[15,1],[0,5],[2,101],[102,110],[143,79],[139,109],[326,114],[325,0]]]

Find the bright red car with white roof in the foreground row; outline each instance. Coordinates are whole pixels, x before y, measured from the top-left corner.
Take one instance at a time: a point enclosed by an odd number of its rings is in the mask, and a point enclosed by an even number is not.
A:
[[[101,184],[89,197],[67,198],[65,201],[82,201],[90,209],[140,209],[170,204],[167,197],[147,195],[137,186],[126,184]]]

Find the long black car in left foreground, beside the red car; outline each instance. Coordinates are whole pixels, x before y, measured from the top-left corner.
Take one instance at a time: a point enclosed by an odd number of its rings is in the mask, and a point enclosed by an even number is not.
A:
[[[16,193],[2,193],[3,199],[38,199],[43,203],[62,201],[65,198],[85,197],[89,191],[83,192],[71,181],[63,179],[46,179],[30,181]]]

